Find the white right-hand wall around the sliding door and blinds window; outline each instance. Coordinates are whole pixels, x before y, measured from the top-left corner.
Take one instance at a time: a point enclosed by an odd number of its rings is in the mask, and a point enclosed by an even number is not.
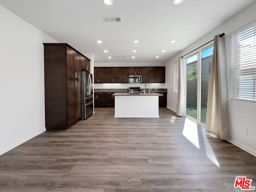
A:
[[[256,2],[218,26],[169,60],[165,62],[166,73],[173,75],[174,62],[179,56],[183,56],[188,52],[198,48],[206,42],[212,40],[214,35],[225,33],[226,47],[226,81],[229,82],[229,65],[230,65],[230,33],[234,30],[252,22],[256,19]],[[210,21],[209,21],[210,22]],[[185,27],[185,26],[184,26]],[[173,76],[167,76],[166,84],[168,85],[167,106],[176,110],[177,94],[173,92]],[[228,88],[227,88],[228,89]],[[228,100],[228,111],[230,120],[230,134],[233,144],[243,148],[244,150],[256,156],[256,103]],[[248,136],[243,135],[243,130],[248,130]]]

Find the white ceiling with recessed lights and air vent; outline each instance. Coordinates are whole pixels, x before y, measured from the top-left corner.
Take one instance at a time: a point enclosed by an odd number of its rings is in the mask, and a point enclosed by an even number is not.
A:
[[[0,0],[58,42],[94,53],[94,62],[164,62],[252,2],[184,0],[174,5],[172,0],[114,0],[106,6],[102,0]],[[106,23],[102,16],[122,16],[122,22]]]

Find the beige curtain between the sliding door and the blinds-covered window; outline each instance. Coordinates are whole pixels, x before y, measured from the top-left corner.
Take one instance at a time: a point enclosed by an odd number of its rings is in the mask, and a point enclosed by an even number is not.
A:
[[[222,140],[230,140],[225,63],[224,36],[216,35],[208,88],[206,132],[215,134]]]

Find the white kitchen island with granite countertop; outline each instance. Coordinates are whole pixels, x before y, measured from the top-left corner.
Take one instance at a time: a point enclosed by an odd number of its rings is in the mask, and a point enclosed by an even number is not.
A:
[[[159,118],[159,93],[114,93],[115,118]]]

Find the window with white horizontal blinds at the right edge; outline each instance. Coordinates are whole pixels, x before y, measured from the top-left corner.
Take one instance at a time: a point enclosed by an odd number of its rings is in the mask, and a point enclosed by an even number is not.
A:
[[[230,38],[230,99],[256,102],[256,21]]]

